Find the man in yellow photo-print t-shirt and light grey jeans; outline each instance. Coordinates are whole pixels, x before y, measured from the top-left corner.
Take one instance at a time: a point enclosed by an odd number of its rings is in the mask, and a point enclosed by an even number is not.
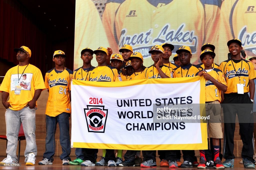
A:
[[[37,99],[41,91],[45,89],[44,80],[41,71],[28,63],[31,57],[31,50],[22,46],[14,48],[17,52],[19,65],[7,71],[4,80],[0,86],[2,92],[2,103],[6,108],[6,136],[7,149],[5,158],[0,165],[17,163],[16,149],[18,142],[18,132],[20,124],[26,136],[25,162],[26,165],[35,165],[35,156],[37,155],[36,146],[36,107]],[[26,77],[26,84],[22,83],[23,77]],[[25,81],[24,80],[24,81]],[[22,86],[20,84],[23,84]],[[10,97],[8,101],[7,98]]]

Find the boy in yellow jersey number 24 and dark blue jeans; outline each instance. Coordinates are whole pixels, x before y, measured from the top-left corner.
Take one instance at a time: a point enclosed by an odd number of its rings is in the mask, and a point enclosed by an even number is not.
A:
[[[60,159],[62,165],[69,165],[71,161],[69,155],[70,137],[69,137],[69,116],[71,113],[71,78],[73,71],[64,66],[65,53],[61,50],[54,52],[52,61],[55,62],[55,68],[45,74],[45,87],[49,91],[49,97],[46,104],[46,139],[45,153],[39,165],[49,165],[53,162],[55,154],[55,132],[57,123],[60,129],[60,145],[62,154]]]

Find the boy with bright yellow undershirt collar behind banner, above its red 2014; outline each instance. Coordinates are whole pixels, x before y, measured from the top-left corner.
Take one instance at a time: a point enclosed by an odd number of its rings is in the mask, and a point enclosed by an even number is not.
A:
[[[96,55],[96,60],[98,66],[90,71],[87,81],[97,81],[97,82],[113,82],[113,81],[122,81],[119,77],[118,70],[114,67],[111,67],[107,64],[109,55],[108,50],[104,47],[99,47],[97,50],[93,51]],[[83,166],[95,166],[95,154],[97,154],[98,149],[94,149],[91,153],[88,153],[84,156],[84,159],[87,160],[84,162]],[[89,159],[87,159],[87,157]],[[116,166],[116,158],[113,149],[106,149],[106,155],[103,157],[96,165],[106,165]]]

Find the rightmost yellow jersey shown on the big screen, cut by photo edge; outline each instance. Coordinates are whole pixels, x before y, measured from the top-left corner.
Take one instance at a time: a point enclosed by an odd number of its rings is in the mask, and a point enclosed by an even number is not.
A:
[[[218,60],[225,61],[229,53],[227,42],[233,38],[241,40],[243,50],[248,58],[256,57],[255,21],[256,1],[252,0],[225,0],[221,5],[219,23],[219,43],[216,56],[223,56]],[[216,60],[217,62],[217,60]],[[219,63],[220,63],[219,62]]]

